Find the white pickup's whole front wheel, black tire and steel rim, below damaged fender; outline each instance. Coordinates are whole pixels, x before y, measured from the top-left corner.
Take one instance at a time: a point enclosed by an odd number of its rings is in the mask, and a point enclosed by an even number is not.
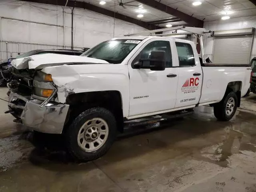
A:
[[[78,160],[91,161],[103,156],[116,138],[116,119],[105,108],[82,112],[68,127],[68,151]]]

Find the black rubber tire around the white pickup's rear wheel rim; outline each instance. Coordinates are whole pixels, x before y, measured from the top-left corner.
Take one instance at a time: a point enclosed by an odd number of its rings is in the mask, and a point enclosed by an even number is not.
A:
[[[234,109],[231,114],[227,115],[226,105],[230,98],[234,98]],[[237,100],[236,93],[233,91],[226,93],[224,98],[214,106],[214,116],[220,121],[229,121],[236,113],[237,104],[238,104],[238,100]]]

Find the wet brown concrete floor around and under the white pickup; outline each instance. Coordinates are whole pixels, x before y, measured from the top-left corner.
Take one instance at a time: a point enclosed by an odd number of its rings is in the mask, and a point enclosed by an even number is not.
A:
[[[5,94],[1,88],[0,98]],[[123,134],[88,163],[35,148],[6,109],[0,101],[0,192],[256,192],[255,94],[242,99],[230,122],[200,107],[182,120]]]

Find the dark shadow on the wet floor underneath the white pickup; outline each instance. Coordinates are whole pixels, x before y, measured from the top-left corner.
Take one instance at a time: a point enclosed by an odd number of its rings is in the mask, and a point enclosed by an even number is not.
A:
[[[116,162],[154,151],[169,150],[178,142],[204,136],[212,131],[223,130],[223,126],[229,124],[230,122],[218,122],[216,120],[201,122],[192,118],[182,118],[130,128],[118,136],[116,142],[105,156],[100,160],[95,160],[93,163],[98,164],[98,162],[104,161],[104,164],[115,164]],[[203,128],[200,128],[202,126]],[[66,152],[62,136],[36,133],[32,135],[30,140],[36,148],[30,153],[29,160],[36,166],[55,170],[54,164],[77,165],[81,163],[75,161]],[[202,147],[202,144],[199,144],[199,146]],[[186,150],[181,149],[177,155],[191,152],[190,147],[188,144]],[[58,170],[62,169],[58,168]],[[66,168],[63,171],[66,171]]]

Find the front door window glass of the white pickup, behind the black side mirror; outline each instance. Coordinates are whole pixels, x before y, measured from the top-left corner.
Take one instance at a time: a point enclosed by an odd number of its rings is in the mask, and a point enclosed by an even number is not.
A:
[[[137,62],[139,59],[150,59],[150,54],[152,51],[165,51],[166,52],[166,68],[172,67],[172,52],[169,41],[153,41],[150,42],[143,50],[138,54],[138,56],[133,60],[132,64]],[[149,61],[143,63],[149,66]]]

